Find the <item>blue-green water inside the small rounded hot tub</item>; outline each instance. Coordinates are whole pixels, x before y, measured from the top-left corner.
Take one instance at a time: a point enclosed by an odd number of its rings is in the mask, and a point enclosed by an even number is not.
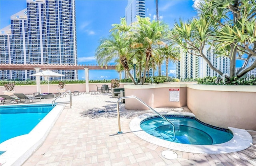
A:
[[[221,144],[233,138],[230,130],[204,124],[194,117],[175,115],[165,117],[174,124],[176,139],[174,139],[172,125],[159,116],[143,120],[140,127],[152,136],[182,144]]]

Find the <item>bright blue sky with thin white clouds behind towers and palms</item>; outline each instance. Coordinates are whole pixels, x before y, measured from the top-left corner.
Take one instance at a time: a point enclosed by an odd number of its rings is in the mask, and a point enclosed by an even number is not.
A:
[[[196,1],[196,0],[195,0]],[[146,16],[156,17],[156,1],[146,0]],[[119,24],[125,16],[128,0],[76,0],[78,64],[96,64],[94,53],[102,37],[110,35],[112,24]],[[160,20],[172,28],[174,20],[196,16],[194,0],[158,0]],[[26,8],[26,0],[0,0],[0,29],[10,24],[10,16]],[[165,65],[162,66],[165,71]],[[176,77],[176,64],[169,63],[169,76]],[[157,75],[157,72],[155,76]],[[79,80],[84,71],[78,71]],[[90,80],[119,78],[115,70],[90,70]]]

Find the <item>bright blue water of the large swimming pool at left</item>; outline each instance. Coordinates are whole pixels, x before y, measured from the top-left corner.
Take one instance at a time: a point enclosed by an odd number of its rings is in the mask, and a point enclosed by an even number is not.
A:
[[[0,107],[0,143],[28,134],[49,112],[51,104]]]

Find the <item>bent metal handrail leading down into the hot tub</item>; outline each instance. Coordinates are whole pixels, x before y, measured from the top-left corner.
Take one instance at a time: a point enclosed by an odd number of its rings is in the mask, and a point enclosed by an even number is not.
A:
[[[156,110],[154,110],[153,108],[151,108],[148,104],[146,104],[145,102],[143,102],[142,100],[140,100],[140,99],[137,98],[136,96],[125,96],[125,97],[121,97],[121,98],[119,98],[119,99],[117,100],[116,109],[117,109],[117,119],[118,119],[118,128],[119,128],[119,131],[117,132],[118,134],[122,134],[122,133],[123,133],[123,132],[121,131],[121,124],[120,124],[119,102],[120,102],[120,100],[125,99],[125,98],[136,98],[138,101],[140,101],[142,104],[144,104],[144,106],[147,106],[148,108],[150,108],[150,110],[152,110],[153,112],[155,112],[156,114],[158,114],[161,118],[163,118],[164,120],[166,120],[167,122],[169,122],[169,123],[172,125],[174,140],[176,140],[174,124],[173,124],[172,122],[170,122],[170,120],[166,119],[164,116],[162,116],[161,114],[159,114],[158,112],[156,112]]]

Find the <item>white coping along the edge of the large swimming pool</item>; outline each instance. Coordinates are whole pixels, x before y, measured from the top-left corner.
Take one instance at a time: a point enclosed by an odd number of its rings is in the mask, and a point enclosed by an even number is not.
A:
[[[4,166],[20,166],[42,145],[64,109],[55,106],[28,134],[17,136],[0,144],[0,163]]]

